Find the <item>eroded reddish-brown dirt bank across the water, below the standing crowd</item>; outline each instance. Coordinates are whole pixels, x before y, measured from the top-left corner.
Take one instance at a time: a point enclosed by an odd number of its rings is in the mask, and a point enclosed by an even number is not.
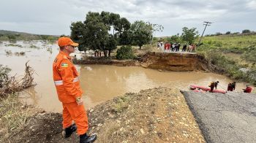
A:
[[[207,63],[195,53],[155,53],[139,55],[137,60],[113,60],[110,58],[86,58],[76,64],[107,64],[116,66],[142,66],[167,71],[195,71],[208,69]]]

